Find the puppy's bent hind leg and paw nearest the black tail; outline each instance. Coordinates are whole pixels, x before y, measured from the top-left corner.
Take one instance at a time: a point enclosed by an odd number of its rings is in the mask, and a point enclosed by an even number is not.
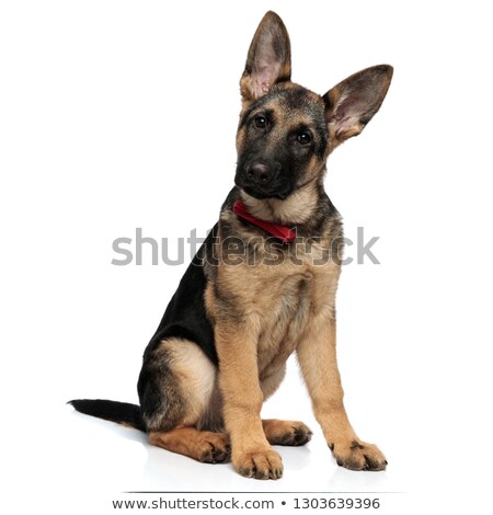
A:
[[[139,392],[152,445],[198,461],[229,458],[217,370],[194,342],[163,340],[142,367]]]

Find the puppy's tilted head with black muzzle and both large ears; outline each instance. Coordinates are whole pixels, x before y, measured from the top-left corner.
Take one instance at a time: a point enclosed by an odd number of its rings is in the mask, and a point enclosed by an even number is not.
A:
[[[252,199],[285,201],[306,185],[321,184],[329,153],[358,135],[379,110],[392,68],[367,68],[323,96],[290,76],[289,36],[270,11],[255,32],[240,81],[234,182]]]

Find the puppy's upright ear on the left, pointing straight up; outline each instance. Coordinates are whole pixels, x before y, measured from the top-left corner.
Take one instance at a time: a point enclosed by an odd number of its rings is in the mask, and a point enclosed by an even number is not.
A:
[[[262,19],[250,45],[240,80],[243,106],[291,77],[289,35],[283,20],[273,11]]]

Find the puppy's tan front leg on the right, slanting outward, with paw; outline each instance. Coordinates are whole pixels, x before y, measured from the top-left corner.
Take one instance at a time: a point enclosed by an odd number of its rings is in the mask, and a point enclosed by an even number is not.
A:
[[[314,415],[337,465],[351,470],[383,470],[387,465],[383,454],[356,436],[344,408],[332,309],[314,318],[297,353]]]

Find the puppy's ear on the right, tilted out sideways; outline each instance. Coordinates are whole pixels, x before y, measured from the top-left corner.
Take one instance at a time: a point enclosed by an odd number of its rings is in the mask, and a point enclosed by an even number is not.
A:
[[[393,68],[374,66],[343,80],[323,95],[330,150],[357,136],[380,108]]]

